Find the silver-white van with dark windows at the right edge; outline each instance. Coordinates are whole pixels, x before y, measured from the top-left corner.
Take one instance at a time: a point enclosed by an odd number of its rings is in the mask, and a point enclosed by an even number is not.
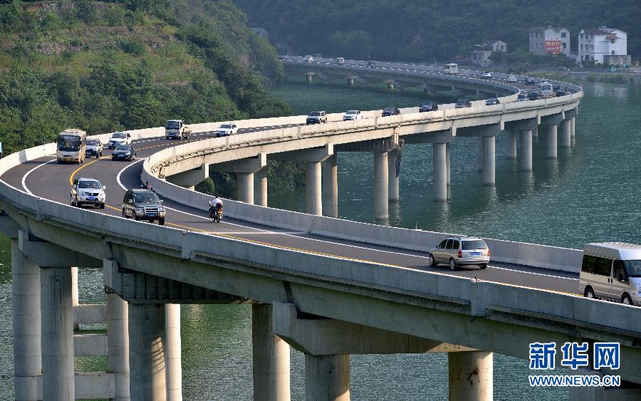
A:
[[[588,298],[641,305],[641,245],[586,244],[579,288]]]

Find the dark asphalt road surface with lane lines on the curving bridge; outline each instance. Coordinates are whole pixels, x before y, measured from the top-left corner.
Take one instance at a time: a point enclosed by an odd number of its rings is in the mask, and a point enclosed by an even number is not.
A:
[[[239,134],[269,129],[273,129],[273,127],[239,130]],[[194,132],[193,137],[194,139],[189,142],[212,137],[212,132]],[[165,140],[164,137],[134,141],[133,145],[137,149],[138,157],[134,162],[111,161],[108,150],[105,150],[105,156],[101,159],[86,159],[85,163],[79,166],[58,165],[55,162],[55,157],[44,157],[14,167],[2,175],[1,179],[38,197],[68,204],[73,177],[95,177],[107,186],[107,206],[105,209],[94,209],[93,211],[120,216],[125,190],[141,186],[142,160],[158,150],[184,142],[186,141]],[[224,219],[221,224],[214,224],[207,219],[201,210],[177,204],[168,199],[165,199],[165,207],[168,209],[166,224],[174,228],[345,259],[371,261],[377,264],[402,266],[423,271],[438,271],[442,274],[468,278],[476,276],[484,281],[509,283],[516,286],[543,288],[563,293],[577,293],[578,291],[578,275],[563,271],[496,263],[490,264],[485,271],[476,267],[449,271],[447,266],[429,267],[426,255],[420,252],[330,239],[304,232],[284,231],[234,219]],[[139,224],[150,223],[140,222]]]

